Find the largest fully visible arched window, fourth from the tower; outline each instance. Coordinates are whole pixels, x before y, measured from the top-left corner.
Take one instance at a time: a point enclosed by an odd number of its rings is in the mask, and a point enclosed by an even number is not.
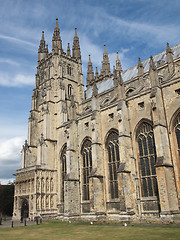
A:
[[[137,130],[142,197],[158,195],[156,178],[156,148],[152,126],[143,122]]]

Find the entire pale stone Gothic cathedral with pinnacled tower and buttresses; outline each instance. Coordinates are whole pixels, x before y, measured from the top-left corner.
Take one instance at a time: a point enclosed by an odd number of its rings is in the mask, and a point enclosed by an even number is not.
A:
[[[110,71],[44,32],[13,218],[180,220],[180,44]]]

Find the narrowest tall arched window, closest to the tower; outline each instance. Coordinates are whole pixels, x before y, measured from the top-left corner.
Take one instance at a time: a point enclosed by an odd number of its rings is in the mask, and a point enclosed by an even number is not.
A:
[[[67,146],[65,145],[63,147],[63,150],[61,152],[61,178],[62,178],[62,187],[61,187],[61,196],[62,196],[62,202],[64,202],[64,178],[67,173],[67,168],[66,168],[66,150]]]

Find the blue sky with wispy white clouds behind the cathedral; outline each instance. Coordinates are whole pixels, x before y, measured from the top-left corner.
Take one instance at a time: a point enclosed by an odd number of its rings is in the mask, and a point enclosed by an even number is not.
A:
[[[20,168],[27,138],[41,32],[51,50],[56,18],[63,49],[77,27],[84,80],[88,55],[100,70],[106,44],[111,69],[123,69],[180,43],[179,0],[0,0],[0,181]]]

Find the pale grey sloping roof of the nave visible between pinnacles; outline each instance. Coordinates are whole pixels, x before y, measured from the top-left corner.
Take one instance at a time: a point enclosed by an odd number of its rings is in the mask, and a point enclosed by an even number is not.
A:
[[[173,59],[177,59],[180,57],[180,44],[172,47],[171,50],[173,53]],[[153,56],[153,61],[156,65],[156,67],[160,67],[160,66],[163,66],[164,64],[166,64],[167,63],[166,50]],[[144,68],[144,73],[148,72],[149,66],[150,66],[150,58],[143,61],[142,65]],[[131,80],[131,79],[137,77],[138,76],[138,64],[123,71],[121,73],[121,75],[122,75],[123,82],[126,82],[128,80]],[[99,94],[108,89],[111,89],[113,87],[114,87],[113,78],[109,78],[103,82],[97,83],[97,88],[98,88]],[[91,97],[92,97],[92,87],[88,88],[86,90],[86,99],[91,98]]]

